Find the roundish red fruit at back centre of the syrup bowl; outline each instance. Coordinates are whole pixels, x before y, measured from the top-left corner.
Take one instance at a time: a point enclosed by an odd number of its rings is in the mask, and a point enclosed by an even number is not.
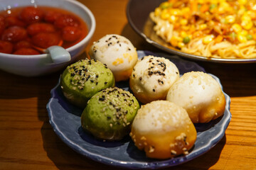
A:
[[[26,8],[23,8],[19,16],[21,20],[26,23],[36,23],[43,20],[44,13],[40,8],[27,6]]]

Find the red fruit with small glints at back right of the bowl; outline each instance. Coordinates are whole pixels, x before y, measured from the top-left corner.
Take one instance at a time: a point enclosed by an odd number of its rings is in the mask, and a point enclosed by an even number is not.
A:
[[[54,25],[57,28],[64,28],[65,26],[78,27],[80,25],[80,22],[75,16],[66,14],[58,17],[58,19],[54,22]]]

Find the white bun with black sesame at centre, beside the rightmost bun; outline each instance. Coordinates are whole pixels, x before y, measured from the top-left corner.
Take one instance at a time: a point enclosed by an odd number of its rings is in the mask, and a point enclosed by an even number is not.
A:
[[[179,78],[176,65],[164,57],[145,56],[137,62],[129,79],[134,96],[142,103],[164,100]]]

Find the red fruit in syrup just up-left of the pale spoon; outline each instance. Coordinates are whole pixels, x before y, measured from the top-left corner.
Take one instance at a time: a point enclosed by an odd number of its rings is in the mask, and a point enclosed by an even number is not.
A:
[[[41,48],[48,48],[52,45],[58,45],[60,36],[56,33],[38,33],[32,37],[33,45]]]

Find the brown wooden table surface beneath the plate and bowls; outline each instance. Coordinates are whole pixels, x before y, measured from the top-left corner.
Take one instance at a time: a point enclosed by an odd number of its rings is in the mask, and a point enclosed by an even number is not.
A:
[[[96,18],[90,45],[116,33],[131,40],[137,50],[159,52],[129,26],[127,0],[81,2]],[[231,97],[232,119],[210,151],[169,169],[256,169],[256,64],[198,64],[220,78]],[[0,71],[0,169],[117,169],[74,152],[53,132],[46,104],[61,72],[20,77]]]

